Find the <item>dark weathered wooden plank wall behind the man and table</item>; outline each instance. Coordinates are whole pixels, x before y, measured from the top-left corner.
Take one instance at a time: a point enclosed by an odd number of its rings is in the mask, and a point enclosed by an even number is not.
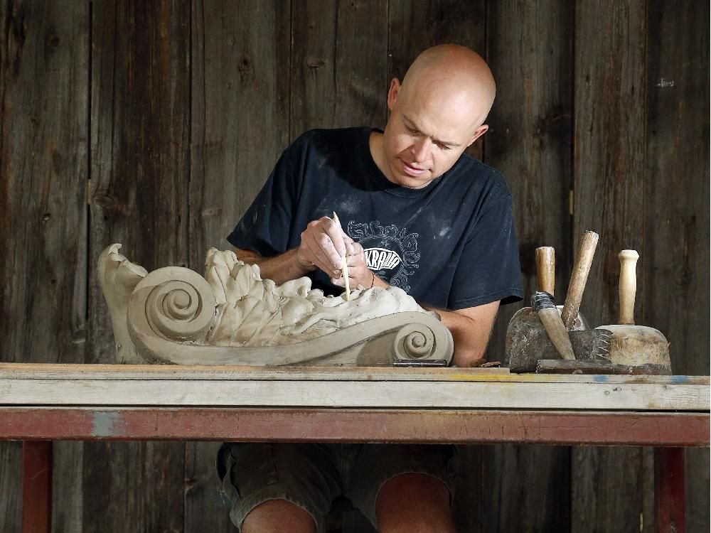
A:
[[[695,0],[4,2],[0,360],[111,362],[103,247],[200,271],[289,141],[383,126],[391,77],[444,42],[498,80],[471,154],[508,179],[527,294],[535,247],[557,250],[560,298],[593,229],[583,309],[614,322],[616,254],[634,247],[638,322],[668,336],[675,372],[707,375],[709,5]],[[230,531],[217,446],[56,443],[53,530]],[[462,531],[654,529],[648,449],[461,452]],[[20,465],[0,443],[0,531],[19,530]],[[688,530],[708,531],[708,449],[688,451],[687,473]]]

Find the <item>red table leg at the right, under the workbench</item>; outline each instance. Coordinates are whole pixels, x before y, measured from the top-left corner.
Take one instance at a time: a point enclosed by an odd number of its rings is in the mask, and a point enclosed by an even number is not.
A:
[[[684,448],[654,449],[654,500],[658,533],[683,533]]]

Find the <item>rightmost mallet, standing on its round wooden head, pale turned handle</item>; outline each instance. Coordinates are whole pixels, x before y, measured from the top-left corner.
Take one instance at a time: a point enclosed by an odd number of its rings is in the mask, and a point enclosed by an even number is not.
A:
[[[669,343],[661,331],[634,323],[634,298],[637,291],[636,264],[639,254],[622,250],[620,259],[619,324],[601,325],[597,329],[612,332],[609,360],[618,365],[645,367],[646,374],[671,374]]]

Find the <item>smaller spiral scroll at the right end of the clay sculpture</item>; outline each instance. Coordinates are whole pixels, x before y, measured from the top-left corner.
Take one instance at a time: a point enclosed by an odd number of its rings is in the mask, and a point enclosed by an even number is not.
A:
[[[426,316],[426,315],[424,315]],[[429,318],[429,317],[428,317]],[[436,319],[432,319],[434,321]],[[429,324],[415,322],[397,330],[393,341],[396,359],[445,359],[451,361],[454,341],[449,330],[437,323],[437,331]]]

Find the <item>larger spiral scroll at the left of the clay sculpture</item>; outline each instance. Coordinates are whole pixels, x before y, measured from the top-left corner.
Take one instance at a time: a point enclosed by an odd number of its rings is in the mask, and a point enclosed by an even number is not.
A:
[[[157,269],[131,295],[129,333],[141,355],[165,360],[166,352],[181,348],[176,342],[204,342],[216,306],[212,287],[196,271],[180,266]]]

